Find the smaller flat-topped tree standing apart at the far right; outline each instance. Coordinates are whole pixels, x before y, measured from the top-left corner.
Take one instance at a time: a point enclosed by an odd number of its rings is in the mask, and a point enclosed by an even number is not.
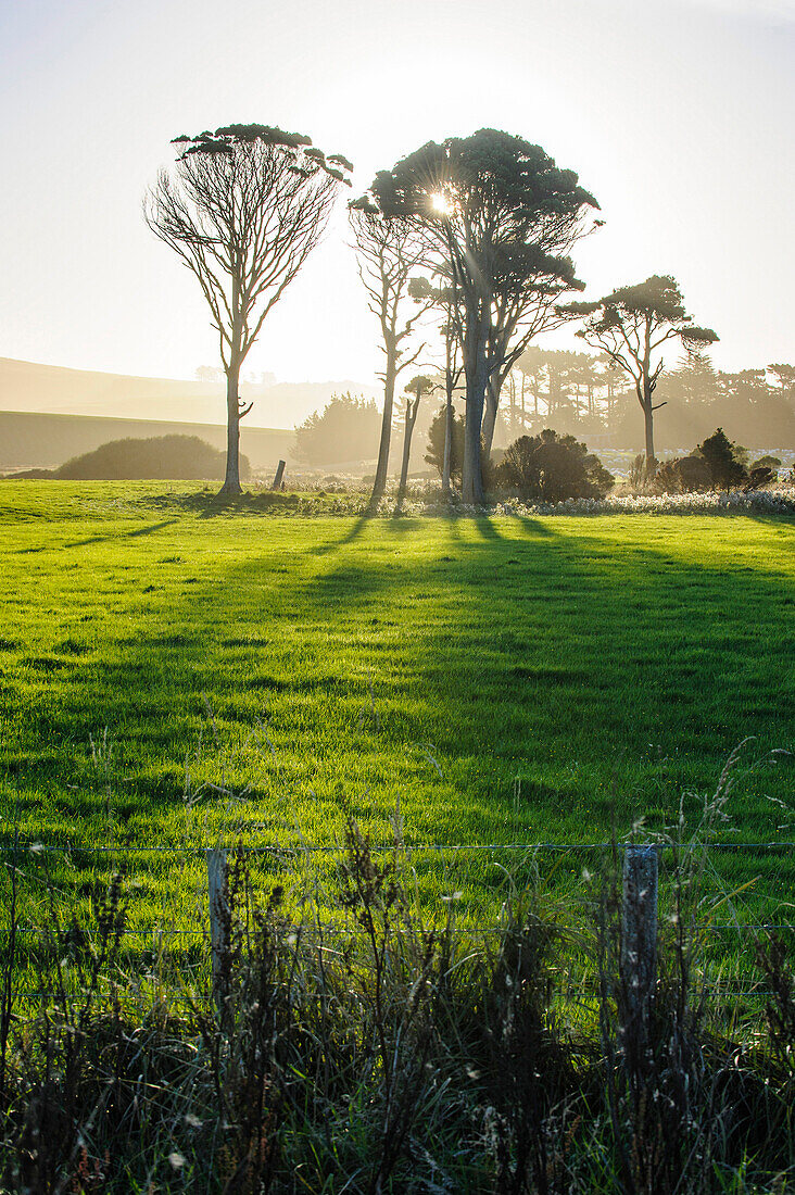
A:
[[[585,326],[577,332],[601,351],[634,384],[646,425],[647,470],[654,472],[654,412],[665,403],[654,404],[654,391],[665,362],[660,349],[678,339],[687,355],[713,344],[717,336],[710,327],[696,327],[684,307],[675,278],[653,275],[634,287],[622,287],[595,302],[568,304],[565,312],[583,315]]]

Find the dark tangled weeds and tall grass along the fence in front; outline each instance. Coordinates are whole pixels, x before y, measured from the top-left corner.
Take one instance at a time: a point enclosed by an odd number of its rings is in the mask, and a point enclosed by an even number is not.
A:
[[[721,788],[707,807],[720,815]],[[6,1191],[783,1193],[795,1181],[795,1000],[787,944],[759,936],[745,991],[705,981],[708,854],[678,857],[648,1017],[619,963],[610,868],[577,905],[536,880],[490,932],[432,927],[399,822],[387,858],[355,822],[324,894],[257,905],[228,884],[216,981],[122,963],[115,878],[93,918],[42,923],[39,999],[4,951]],[[12,894],[13,895],[13,894]],[[13,921],[13,900],[8,906]],[[591,980],[562,960],[573,940]],[[209,943],[204,940],[207,951]],[[748,1013],[747,998],[762,986]]]

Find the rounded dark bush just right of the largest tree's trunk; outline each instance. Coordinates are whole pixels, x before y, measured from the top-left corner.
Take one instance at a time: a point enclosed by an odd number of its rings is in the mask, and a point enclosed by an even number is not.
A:
[[[516,490],[521,498],[543,502],[601,498],[613,484],[612,474],[586,445],[549,429],[520,436],[506,449],[496,473],[497,484]]]

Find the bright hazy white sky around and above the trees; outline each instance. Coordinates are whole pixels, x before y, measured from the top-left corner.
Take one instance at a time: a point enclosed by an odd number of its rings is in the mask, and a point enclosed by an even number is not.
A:
[[[195,280],[146,228],[170,139],[258,121],[375,170],[495,127],[580,174],[588,295],[673,274],[716,364],[795,360],[795,0],[6,0],[0,356],[190,378]],[[246,369],[379,366],[343,202]]]

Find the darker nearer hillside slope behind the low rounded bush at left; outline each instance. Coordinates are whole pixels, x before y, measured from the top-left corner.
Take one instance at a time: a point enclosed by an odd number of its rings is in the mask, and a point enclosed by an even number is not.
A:
[[[0,411],[0,473],[23,468],[57,468],[73,456],[114,440],[153,436],[200,436],[215,451],[226,447],[226,429],[203,423],[165,423],[147,419],[103,419],[85,415],[29,415]],[[281,428],[243,425],[241,451],[251,467],[269,472],[283,458],[289,465],[295,433]]]

